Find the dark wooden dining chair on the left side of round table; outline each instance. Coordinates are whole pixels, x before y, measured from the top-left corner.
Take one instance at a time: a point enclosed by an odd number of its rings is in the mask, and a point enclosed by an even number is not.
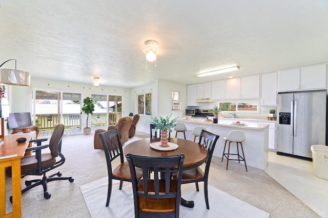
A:
[[[120,136],[117,129],[112,129],[106,132],[99,133],[99,137],[104,146],[107,169],[108,169],[108,193],[107,193],[107,202],[106,207],[109,205],[109,200],[112,193],[112,180],[119,180],[119,190],[122,189],[123,181],[131,182],[131,174],[129,163],[124,162],[124,155],[122,151],[122,144]],[[112,161],[116,158],[120,158],[120,164],[112,169]],[[140,180],[142,177],[142,172],[139,169],[136,169],[135,177],[137,180]]]

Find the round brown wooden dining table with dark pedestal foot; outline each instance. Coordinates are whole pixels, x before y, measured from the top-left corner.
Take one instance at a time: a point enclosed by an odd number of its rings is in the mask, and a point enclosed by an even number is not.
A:
[[[142,156],[170,156],[184,154],[183,171],[200,166],[205,162],[207,150],[197,142],[181,139],[169,138],[169,142],[178,145],[178,148],[172,151],[159,151],[150,147],[151,143],[160,141],[159,138],[145,138],[133,141],[124,148],[124,154],[135,154]],[[194,207],[193,201],[181,199],[181,205],[186,207]]]

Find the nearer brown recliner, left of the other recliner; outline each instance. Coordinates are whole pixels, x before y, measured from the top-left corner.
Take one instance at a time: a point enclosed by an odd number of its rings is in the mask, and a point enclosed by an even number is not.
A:
[[[129,139],[129,130],[131,128],[132,122],[133,119],[131,117],[129,116],[122,117],[118,120],[116,125],[109,126],[107,131],[116,128],[121,138],[121,143],[124,144]],[[103,143],[101,142],[100,137],[98,135],[100,132],[106,132],[106,130],[99,129],[94,132],[94,139],[93,139],[94,149],[104,149]]]

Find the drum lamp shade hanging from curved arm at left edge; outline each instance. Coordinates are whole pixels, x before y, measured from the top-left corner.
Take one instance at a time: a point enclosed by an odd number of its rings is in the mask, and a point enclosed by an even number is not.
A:
[[[29,86],[30,73],[16,69],[0,69],[0,82],[8,85]]]

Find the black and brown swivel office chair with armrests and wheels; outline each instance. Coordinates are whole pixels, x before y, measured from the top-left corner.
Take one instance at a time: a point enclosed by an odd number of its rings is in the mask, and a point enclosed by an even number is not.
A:
[[[65,157],[61,154],[61,139],[64,135],[64,125],[58,124],[49,141],[49,144],[42,146],[43,141],[47,141],[48,139],[34,139],[30,140],[31,143],[36,143],[36,147],[27,148],[26,151],[33,151],[35,155],[25,156],[20,160],[21,166],[21,175],[22,178],[25,176],[42,176],[42,179],[35,180],[27,180],[25,181],[25,185],[27,186],[22,190],[22,194],[26,191],[34,188],[38,185],[42,185],[44,189],[44,197],[45,199],[49,199],[51,194],[48,193],[47,183],[55,180],[68,180],[73,182],[74,179],[72,177],[61,177],[61,173],[57,172],[47,177],[46,173],[51,171],[52,169],[63,165],[65,162]],[[50,153],[41,153],[42,149],[48,148],[50,149]],[[56,160],[56,157],[60,157],[60,160]],[[6,170],[6,176],[11,177],[11,167],[8,167]],[[58,176],[58,177],[54,177]],[[34,184],[32,184],[34,183]],[[10,202],[12,202],[12,197],[10,197]]]

